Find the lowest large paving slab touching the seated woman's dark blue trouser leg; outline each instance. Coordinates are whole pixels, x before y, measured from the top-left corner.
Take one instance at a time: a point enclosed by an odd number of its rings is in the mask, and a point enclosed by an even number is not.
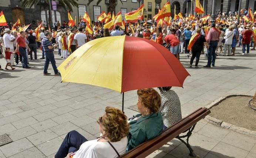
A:
[[[54,138],[36,147],[47,157],[58,151],[63,139],[61,137]]]

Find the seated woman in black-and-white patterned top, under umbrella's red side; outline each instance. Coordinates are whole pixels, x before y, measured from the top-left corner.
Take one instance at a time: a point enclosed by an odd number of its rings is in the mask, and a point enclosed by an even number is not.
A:
[[[164,121],[164,129],[172,126],[182,119],[181,102],[171,87],[158,87],[161,96],[160,112]]]

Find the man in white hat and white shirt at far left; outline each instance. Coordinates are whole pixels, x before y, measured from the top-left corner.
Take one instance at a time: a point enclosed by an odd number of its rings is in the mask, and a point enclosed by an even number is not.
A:
[[[4,33],[5,33],[3,36],[4,47],[9,47],[10,51],[14,52],[13,41],[15,40],[15,38],[11,38],[11,36],[10,36],[11,30],[9,28],[6,28],[6,29],[4,29]],[[14,54],[15,53],[11,54],[11,65],[12,66],[15,66],[14,65]],[[5,56],[5,53],[4,53],[4,56]]]

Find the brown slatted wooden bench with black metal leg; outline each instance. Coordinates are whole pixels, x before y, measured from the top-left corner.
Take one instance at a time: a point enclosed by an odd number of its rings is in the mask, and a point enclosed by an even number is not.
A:
[[[136,148],[133,148],[132,150],[126,152],[125,154],[121,155],[119,158],[144,158],[154,152],[155,150],[158,150],[160,147],[165,145],[167,142],[171,141],[174,138],[178,138],[180,141],[182,141],[189,149],[189,155],[195,157],[195,153],[193,152],[193,149],[189,145],[189,137],[192,134],[193,129],[195,128],[196,123],[203,119],[205,116],[207,116],[210,113],[210,110],[206,107],[200,108],[193,113],[189,114],[188,116],[184,117],[181,121],[178,123],[172,125],[171,127],[164,130],[161,134],[159,134],[157,137],[155,137],[152,140],[146,141],[140,145],[138,145]],[[180,136],[181,133],[186,133],[185,135]],[[181,138],[186,137],[186,142],[183,141]]]

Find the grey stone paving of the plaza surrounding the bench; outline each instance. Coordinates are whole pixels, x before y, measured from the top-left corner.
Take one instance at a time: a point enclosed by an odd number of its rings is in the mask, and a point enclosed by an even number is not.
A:
[[[201,68],[188,68],[189,59],[181,54],[181,62],[191,74],[184,88],[174,87],[186,116],[220,96],[256,91],[256,51],[249,55],[218,56],[215,68],[202,68],[206,59],[201,55]],[[41,54],[41,53],[38,53]],[[57,64],[61,59],[55,54]],[[89,140],[99,135],[95,122],[105,106],[121,109],[121,95],[110,89],[77,83],[60,83],[60,76],[43,76],[43,60],[30,61],[31,69],[21,65],[14,71],[0,71],[0,135],[13,140],[0,147],[0,158],[52,158],[65,134],[77,130]],[[0,58],[2,68],[6,64]],[[193,65],[194,66],[194,65]],[[53,73],[51,65],[49,72]],[[86,69],[86,68],[84,68]],[[136,91],[125,93],[125,114],[137,103]],[[255,120],[252,120],[255,121]],[[213,126],[201,120],[191,136],[195,154],[203,158],[255,158],[256,140],[242,134]],[[149,157],[184,158],[188,149],[174,139]]]

